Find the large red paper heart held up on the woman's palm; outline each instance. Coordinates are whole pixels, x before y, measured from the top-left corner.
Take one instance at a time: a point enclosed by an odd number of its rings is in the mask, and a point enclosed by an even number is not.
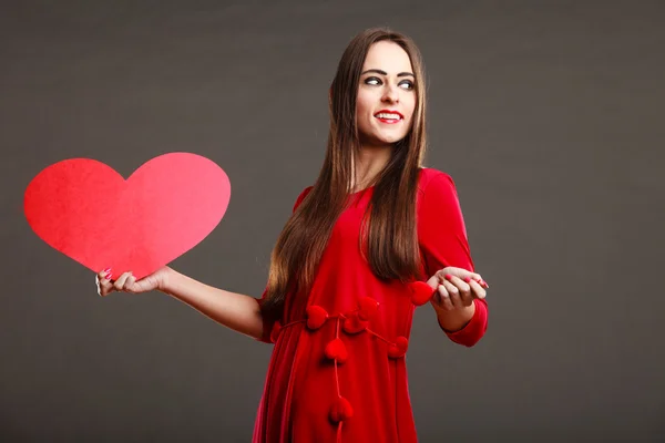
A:
[[[126,181],[90,158],[65,159],[28,185],[23,208],[34,233],[99,272],[131,270],[137,279],[182,256],[219,224],[231,183],[214,162],[170,153]]]

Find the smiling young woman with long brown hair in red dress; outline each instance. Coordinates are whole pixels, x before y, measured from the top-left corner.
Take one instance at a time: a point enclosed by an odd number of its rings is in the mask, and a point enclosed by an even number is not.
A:
[[[442,334],[471,347],[487,329],[488,285],[473,271],[451,177],[421,167],[413,42],[360,33],[329,97],[324,166],[296,200],[260,298],[168,267],[139,281],[105,269],[99,293],[157,289],[274,343],[254,442],[416,442],[405,362],[413,309],[429,301]]]

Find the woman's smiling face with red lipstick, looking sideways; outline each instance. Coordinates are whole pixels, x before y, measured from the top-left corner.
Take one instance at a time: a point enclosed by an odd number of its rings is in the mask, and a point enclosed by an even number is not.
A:
[[[374,43],[360,74],[356,124],[360,143],[383,146],[402,140],[411,128],[416,79],[409,54],[397,43]]]

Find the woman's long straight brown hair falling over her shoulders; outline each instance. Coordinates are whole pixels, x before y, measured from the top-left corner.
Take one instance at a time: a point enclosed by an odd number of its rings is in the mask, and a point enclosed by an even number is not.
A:
[[[411,39],[388,29],[368,29],[346,48],[330,86],[330,130],[319,176],[286,223],[270,258],[262,312],[278,319],[286,295],[306,297],[332,226],[345,208],[355,182],[354,158],[360,150],[356,100],[360,72],[369,48],[388,40],[409,55],[416,76],[416,109],[407,136],[393,146],[391,158],[377,174],[361,238],[372,272],[380,279],[410,280],[420,275],[416,233],[416,192],[426,151],[424,72],[420,51]],[[369,215],[369,217],[367,217]]]

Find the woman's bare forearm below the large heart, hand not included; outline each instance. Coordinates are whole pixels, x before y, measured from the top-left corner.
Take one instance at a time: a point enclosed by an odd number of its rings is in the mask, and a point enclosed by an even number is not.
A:
[[[190,305],[206,317],[254,339],[263,334],[263,316],[254,297],[205,285],[172,268],[166,268],[162,292]]]

